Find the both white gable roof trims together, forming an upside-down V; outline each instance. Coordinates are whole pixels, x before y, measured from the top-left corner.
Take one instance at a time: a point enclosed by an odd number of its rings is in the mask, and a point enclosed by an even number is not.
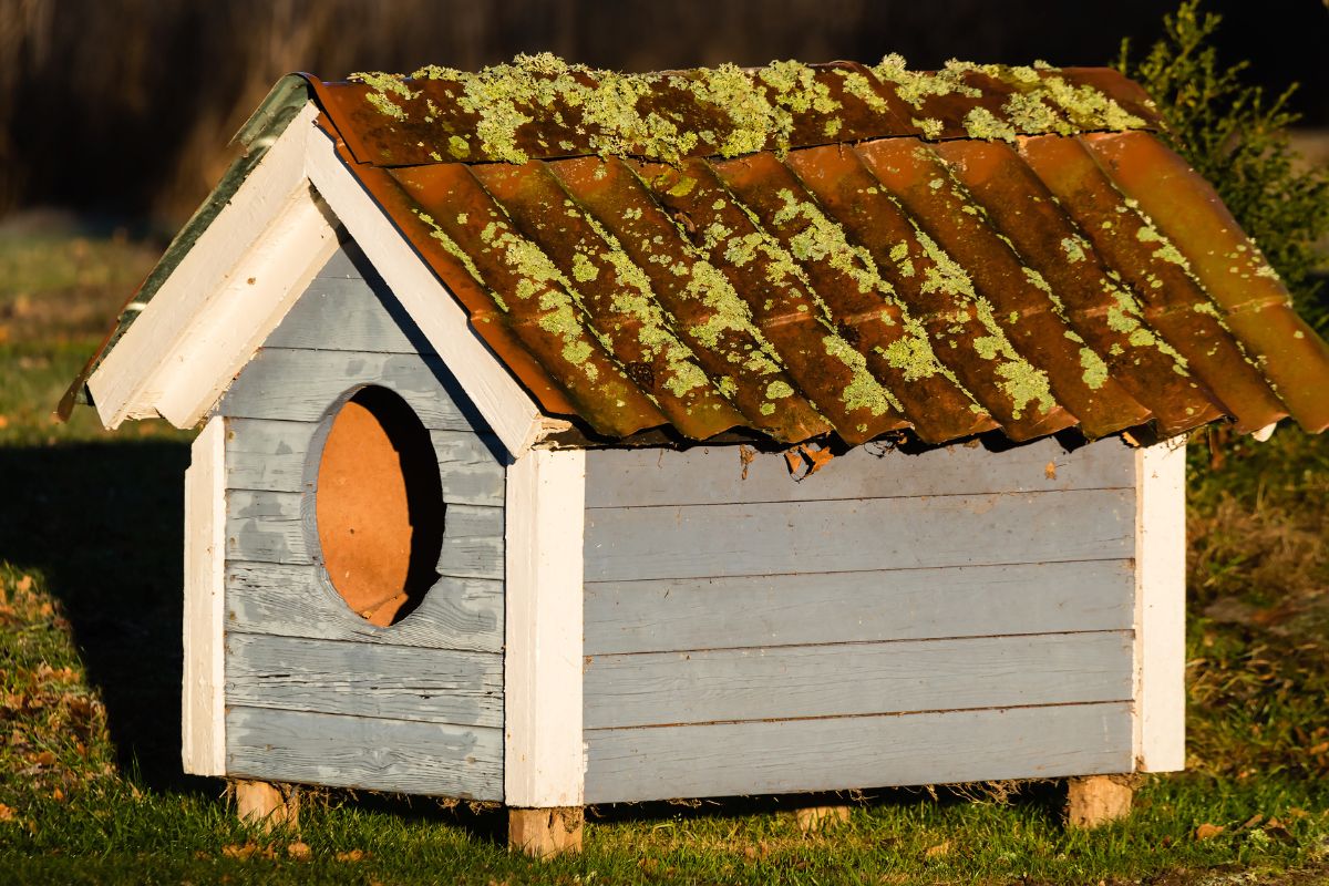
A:
[[[553,430],[465,310],[315,126],[311,101],[88,379],[106,428],[197,426],[338,250],[338,223],[457,377],[513,458]]]

